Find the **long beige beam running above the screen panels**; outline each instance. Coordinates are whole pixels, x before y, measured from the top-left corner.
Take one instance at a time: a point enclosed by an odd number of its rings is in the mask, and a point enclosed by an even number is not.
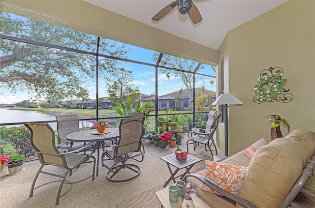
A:
[[[218,51],[137,22],[83,0],[1,0],[2,11],[206,64]]]

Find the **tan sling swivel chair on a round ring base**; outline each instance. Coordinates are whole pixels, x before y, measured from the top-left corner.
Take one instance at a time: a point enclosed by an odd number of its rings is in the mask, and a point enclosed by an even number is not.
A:
[[[144,159],[141,151],[144,119],[145,117],[121,119],[119,140],[113,145],[114,149],[105,150],[103,146],[102,166],[108,169],[106,178],[109,181],[125,182],[140,175],[138,165],[126,162],[130,159],[142,162]]]

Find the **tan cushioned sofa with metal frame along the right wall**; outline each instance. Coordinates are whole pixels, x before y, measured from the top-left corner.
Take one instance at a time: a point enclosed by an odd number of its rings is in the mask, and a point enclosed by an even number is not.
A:
[[[315,169],[315,133],[295,129],[253,154],[250,159],[242,151],[221,161],[235,166],[248,166],[238,196],[203,178],[205,170],[189,174],[186,182],[200,181],[223,196],[197,189],[197,196],[211,208],[287,208]]]

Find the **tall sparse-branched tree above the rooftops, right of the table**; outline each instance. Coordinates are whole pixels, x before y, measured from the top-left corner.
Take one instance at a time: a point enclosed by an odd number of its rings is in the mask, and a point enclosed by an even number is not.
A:
[[[153,55],[153,60],[158,60],[158,53]],[[172,68],[181,69],[189,72],[193,72],[197,66],[194,61],[170,56],[167,54],[163,54],[163,59],[161,59],[161,65],[163,66],[170,66]],[[214,68],[213,66],[211,66]],[[204,67],[201,65],[199,69],[203,69]],[[170,69],[160,69],[162,74],[166,74],[167,78],[169,79],[171,76],[180,77],[185,85],[186,89],[189,91],[189,101],[192,103],[192,81],[193,81],[193,74],[186,73],[183,71],[175,71]],[[197,79],[196,79],[197,80]]]

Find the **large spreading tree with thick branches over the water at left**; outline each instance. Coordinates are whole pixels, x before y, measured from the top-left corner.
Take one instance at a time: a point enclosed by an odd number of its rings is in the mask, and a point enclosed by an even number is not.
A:
[[[0,16],[3,35],[95,51],[94,35],[5,12],[1,12]],[[99,52],[126,58],[127,50],[125,45],[117,47],[101,38]],[[100,75],[107,81],[112,80],[116,64],[115,59],[99,59]],[[79,98],[84,93],[83,84],[88,78],[95,78],[95,65],[95,56],[1,38],[0,87],[12,94],[17,91],[27,92],[34,100],[46,100],[49,96],[63,100]]]

